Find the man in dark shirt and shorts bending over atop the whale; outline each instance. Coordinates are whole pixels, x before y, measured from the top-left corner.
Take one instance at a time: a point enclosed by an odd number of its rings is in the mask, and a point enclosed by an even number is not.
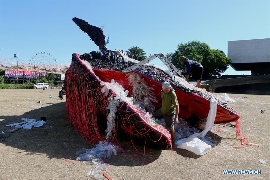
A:
[[[182,74],[186,76],[186,81],[188,82],[189,75],[192,74],[192,77],[197,82],[198,88],[202,88],[202,64],[198,63],[197,61],[189,60],[185,56],[180,56],[179,61],[185,67],[185,70],[183,70]]]

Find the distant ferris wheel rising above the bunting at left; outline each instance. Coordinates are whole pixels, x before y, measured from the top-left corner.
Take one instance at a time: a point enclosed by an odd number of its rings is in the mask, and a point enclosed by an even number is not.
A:
[[[38,67],[48,67],[56,65],[57,61],[55,57],[48,52],[38,52],[32,56],[29,64]]]

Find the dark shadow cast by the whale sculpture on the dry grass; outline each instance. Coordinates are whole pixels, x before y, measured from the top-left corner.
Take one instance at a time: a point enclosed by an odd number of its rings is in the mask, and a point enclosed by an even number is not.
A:
[[[22,116],[0,116],[0,119],[4,119],[0,121],[0,131],[4,131],[6,135],[8,135],[8,132],[14,127],[5,127],[5,125],[20,123],[22,122],[21,118],[39,120],[41,117],[46,117],[47,119],[47,123],[44,126],[30,130],[20,129],[11,133],[10,136],[4,141],[1,141],[1,143],[6,146],[21,149],[22,151],[20,153],[24,152],[27,155],[46,154],[49,159],[62,158],[74,160],[75,163],[78,162],[76,161],[75,152],[82,149],[82,147],[91,149],[93,146],[88,145],[89,143],[85,142],[83,137],[70,126],[67,119],[65,102],[47,104],[51,105],[31,110],[24,113]],[[105,129],[106,127],[99,126],[102,136],[105,136],[105,134],[102,133],[105,132]],[[211,132],[209,132],[207,136],[212,137],[211,140],[214,140],[214,144],[219,144],[221,141],[221,137]],[[104,161],[105,163],[116,166],[142,166],[157,160],[161,155],[161,147],[151,144],[146,144],[144,147],[144,140],[134,141],[138,150],[137,152],[133,149],[125,133],[119,134],[118,140],[121,145],[124,145],[124,147],[131,152],[113,157],[110,160],[106,159]],[[170,149],[167,150],[170,151]],[[187,158],[200,157],[184,149],[175,148],[173,151]]]

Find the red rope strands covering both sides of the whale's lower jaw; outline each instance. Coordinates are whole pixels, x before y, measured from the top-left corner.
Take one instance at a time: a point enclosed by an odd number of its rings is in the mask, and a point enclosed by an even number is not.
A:
[[[103,87],[93,71],[80,62],[72,62],[65,79],[67,116],[70,124],[91,144],[105,140],[106,136],[101,136],[99,132],[98,121],[106,121],[106,118],[98,119],[98,114],[108,116],[108,97],[116,96],[110,89],[107,89],[109,92],[105,96],[106,92],[101,92]],[[110,142],[120,145],[117,131],[121,128],[128,134],[134,148],[134,137],[142,139],[145,144],[150,140],[162,146],[170,145],[170,133],[161,125],[149,125],[143,120],[145,113],[141,110],[138,113],[138,110],[125,101],[120,102]]]

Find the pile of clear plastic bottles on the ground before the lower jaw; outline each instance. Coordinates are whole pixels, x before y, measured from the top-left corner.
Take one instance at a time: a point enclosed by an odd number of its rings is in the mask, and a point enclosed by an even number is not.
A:
[[[95,167],[89,170],[86,175],[94,176],[95,179],[100,179],[102,177],[101,170],[105,171],[109,168],[109,164],[103,163],[103,159],[111,159],[112,156],[117,156],[118,153],[125,153],[125,150],[120,146],[113,145],[106,141],[100,141],[92,149],[79,150],[76,152],[76,155],[79,157],[76,158],[77,161],[83,161],[83,164],[91,164]]]

